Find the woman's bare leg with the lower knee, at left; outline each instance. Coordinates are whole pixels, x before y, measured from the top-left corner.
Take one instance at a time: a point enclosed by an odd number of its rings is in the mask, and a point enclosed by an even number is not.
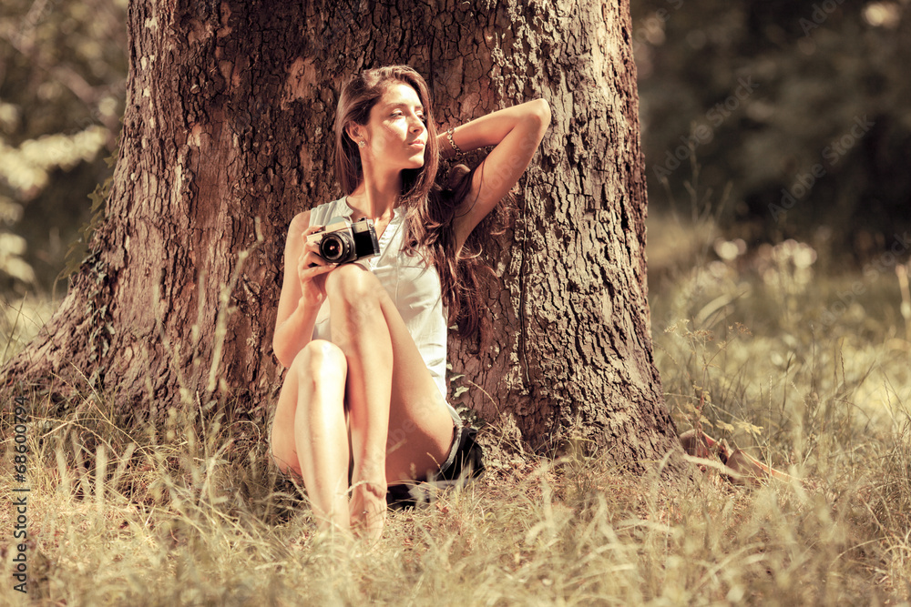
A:
[[[338,347],[316,339],[295,357],[281,387],[272,425],[272,454],[281,470],[303,478],[322,527],[349,529],[347,364]]]

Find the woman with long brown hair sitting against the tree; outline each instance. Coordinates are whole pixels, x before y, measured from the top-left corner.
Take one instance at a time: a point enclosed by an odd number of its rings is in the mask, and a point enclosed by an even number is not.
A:
[[[289,368],[272,456],[302,476],[323,527],[378,538],[387,487],[455,457],[461,420],[445,400],[446,312],[472,329],[480,317],[459,253],[549,122],[537,99],[437,136],[426,83],[407,66],[367,70],[343,89],[335,147],[345,196],[292,219],[272,342]],[[464,187],[435,187],[441,154],[486,146],[496,147]],[[373,219],[380,255],[322,259],[307,237],[339,216]]]

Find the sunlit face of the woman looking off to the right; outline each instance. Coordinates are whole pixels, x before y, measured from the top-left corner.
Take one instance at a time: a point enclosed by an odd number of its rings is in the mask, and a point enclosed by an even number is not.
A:
[[[417,91],[402,82],[393,82],[370,109],[370,119],[361,137],[367,142],[361,148],[362,156],[370,156],[376,167],[423,167],[425,123],[424,106]]]

